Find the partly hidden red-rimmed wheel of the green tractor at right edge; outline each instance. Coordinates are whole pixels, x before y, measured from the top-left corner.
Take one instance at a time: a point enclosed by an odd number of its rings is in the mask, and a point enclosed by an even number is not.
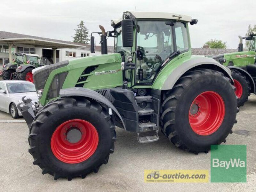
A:
[[[236,87],[235,93],[238,97],[237,106],[241,107],[248,101],[248,97],[251,95],[251,85],[246,76],[239,71],[231,69],[231,72],[235,82],[234,86]]]

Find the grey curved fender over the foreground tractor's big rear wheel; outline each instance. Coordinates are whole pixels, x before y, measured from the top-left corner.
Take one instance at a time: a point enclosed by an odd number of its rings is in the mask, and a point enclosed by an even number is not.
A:
[[[172,63],[174,64],[174,63]],[[172,65],[168,65],[171,69],[168,70],[170,73],[167,78],[165,78],[161,90],[170,90],[178,79],[192,68],[208,68],[208,69],[217,69],[224,73],[225,76],[229,77],[234,84],[233,78],[231,76],[231,71],[226,66],[221,65],[216,60],[203,56],[191,56],[188,59],[180,62],[176,68],[173,68]],[[166,66],[166,67],[168,67]],[[164,69],[165,70],[165,69]],[[154,87],[153,87],[154,88]],[[156,89],[156,88],[155,88]]]

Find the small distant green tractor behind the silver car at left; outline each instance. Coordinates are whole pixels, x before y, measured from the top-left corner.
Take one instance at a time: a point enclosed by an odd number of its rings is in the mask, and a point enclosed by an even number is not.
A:
[[[33,83],[32,70],[40,66],[38,55],[15,53],[15,59],[3,66],[3,79],[26,80]]]

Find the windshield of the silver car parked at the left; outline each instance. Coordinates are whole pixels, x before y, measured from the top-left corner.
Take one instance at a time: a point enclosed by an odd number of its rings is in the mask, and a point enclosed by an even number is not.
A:
[[[6,86],[9,93],[36,92],[35,85],[32,83],[9,83]]]

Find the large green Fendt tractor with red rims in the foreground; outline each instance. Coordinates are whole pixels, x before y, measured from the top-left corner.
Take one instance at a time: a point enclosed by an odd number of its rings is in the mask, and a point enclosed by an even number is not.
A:
[[[29,153],[54,179],[98,172],[114,152],[115,127],[140,143],[159,140],[208,153],[226,142],[236,123],[231,71],[212,58],[191,54],[186,15],[124,12],[112,31],[100,26],[101,53],[35,69],[40,103],[18,108],[29,127]],[[115,38],[107,54],[107,37]],[[91,37],[91,52],[95,39]],[[145,149],[146,150],[146,149]]]

